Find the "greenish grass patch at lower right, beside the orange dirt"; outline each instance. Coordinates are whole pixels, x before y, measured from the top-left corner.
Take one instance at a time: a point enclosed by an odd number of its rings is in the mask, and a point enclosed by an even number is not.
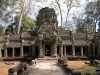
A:
[[[86,73],[90,73],[91,75],[94,75],[96,72],[96,67],[94,66],[89,66],[88,64],[84,64],[82,68],[82,75],[86,75]]]

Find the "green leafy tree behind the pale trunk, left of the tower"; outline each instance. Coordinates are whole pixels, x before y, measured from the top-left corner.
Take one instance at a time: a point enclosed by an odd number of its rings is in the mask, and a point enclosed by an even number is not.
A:
[[[19,21],[20,15],[17,15],[15,17],[15,22],[9,25],[6,28],[5,34],[17,34],[17,27],[18,27],[18,21]],[[28,17],[28,16],[23,16],[22,18],[22,24],[21,24],[21,31],[31,31],[35,27],[35,21]]]

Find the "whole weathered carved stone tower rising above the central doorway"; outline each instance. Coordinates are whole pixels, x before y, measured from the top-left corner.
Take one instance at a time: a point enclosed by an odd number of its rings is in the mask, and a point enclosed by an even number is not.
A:
[[[48,7],[40,9],[36,25],[39,40],[61,41],[58,36],[58,21],[54,9]]]

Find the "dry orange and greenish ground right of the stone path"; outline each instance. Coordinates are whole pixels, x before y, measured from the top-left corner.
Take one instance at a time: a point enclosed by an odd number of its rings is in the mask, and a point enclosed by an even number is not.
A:
[[[97,67],[90,66],[89,64],[85,64],[85,61],[68,61],[68,66],[76,71],[81,71],[82,75],[85,75],[85,73],[95,73]]]

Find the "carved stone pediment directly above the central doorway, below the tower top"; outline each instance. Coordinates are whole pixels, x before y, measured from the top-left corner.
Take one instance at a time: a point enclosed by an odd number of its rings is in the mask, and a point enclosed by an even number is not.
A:
[[[38,38],[41,40],[56,40],[58,37],[57,28],[51,25],[42,25],[38,31]]]

